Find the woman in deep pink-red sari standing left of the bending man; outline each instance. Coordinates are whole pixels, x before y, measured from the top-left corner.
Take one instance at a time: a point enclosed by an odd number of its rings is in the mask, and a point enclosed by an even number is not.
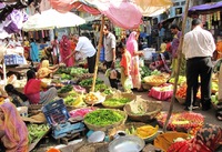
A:
[[[71,43],[67,36],[62,36],[62,39],[60,41],[60,55],[61,55],[61,62],[65,63],[67,67],[73,67],[74,61],[73,58],[67,59],[69,54],[71,54]],[[65,60],[67,59],[67,60]]]

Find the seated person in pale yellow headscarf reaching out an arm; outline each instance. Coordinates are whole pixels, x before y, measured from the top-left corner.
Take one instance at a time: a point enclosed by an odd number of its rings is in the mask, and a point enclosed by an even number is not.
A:
[[[59,65],[49,65],[49,60],[46,60],[44,58],[41,59],[37,78],[43,79],[43,78],[50,78],[52,77],[52,73],[54,73],[59,69]]]

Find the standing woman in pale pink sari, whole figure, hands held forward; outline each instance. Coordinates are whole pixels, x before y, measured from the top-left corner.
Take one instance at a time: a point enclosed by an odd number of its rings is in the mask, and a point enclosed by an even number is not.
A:
[[[139,55],[143,55],[142,51],[138,51],[138,38],[139,33],[133,31],[130,33],[130,37],[127,41],[127,50],[131,54],[131,77],[132,77],[132,83],[133,88],[138,89],[140,91],[141,88],[141,75],[140,75],[140,69],[139,69]]]

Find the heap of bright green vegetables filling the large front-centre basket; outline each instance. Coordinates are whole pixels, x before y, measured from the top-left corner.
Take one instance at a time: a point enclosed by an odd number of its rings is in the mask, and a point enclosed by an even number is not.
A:
[[[84,118],[84,122],[99,126],[105,126],[119,122],[123,119],[124,116],[119,112],[108,109],[100,109],[88,113]]]

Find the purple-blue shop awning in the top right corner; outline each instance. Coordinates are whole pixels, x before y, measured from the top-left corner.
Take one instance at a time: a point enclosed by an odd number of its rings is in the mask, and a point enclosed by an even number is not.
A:
[[[222,10],[222,1],[220,2],[211,2],[200,6],[194,6],[189,9],[189,16],[191,14],[206,14],[214,11],[221,11]]]

